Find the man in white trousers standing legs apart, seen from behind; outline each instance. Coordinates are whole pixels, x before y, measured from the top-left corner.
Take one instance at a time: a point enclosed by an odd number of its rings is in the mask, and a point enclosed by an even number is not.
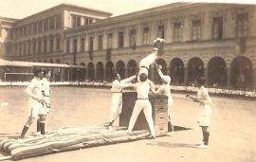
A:
[[[137,89],[137,101],[133,110],[132,117],[130,118],[128,132],[132,132],[135,126],[137,116],[140,111],[143,110],[143,113],[149,124],[151,138],[155,139],[155,128],[154,121],[152,117],[152,105],[149,100],[149,92],[152,90],[155,92],[155,84],[148,80],[148,75],[146,73],[141,73],[139,76],[139,82],[136,83],[135,88]]]

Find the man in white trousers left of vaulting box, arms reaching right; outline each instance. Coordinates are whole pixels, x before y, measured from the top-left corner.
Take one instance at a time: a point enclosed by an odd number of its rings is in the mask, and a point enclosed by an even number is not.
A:
[[[114,81],[112,83],[111,92],[113,92],[111,99],[110,118],[108,128],[112,128],[113,122],[119,117],[122,109],[122,88],[132,85],[131,81],[137,78],[136,75],[125,80],[120,80],[119,73],[114,73]]]

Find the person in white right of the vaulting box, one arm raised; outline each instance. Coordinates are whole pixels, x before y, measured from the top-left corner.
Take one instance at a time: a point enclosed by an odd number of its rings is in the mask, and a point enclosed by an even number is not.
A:
[[[162,65],[157,65],[157,72],[162,79],[163,83],[160,85],[160,87],[155,91],[155,94],[161,94],[168,97],[168,134],[167,135],[173,135],[174,134],[174,125],[171,121],[171,106],[174,104],[174,99],[171,96],[171,77],[163,75],[162,71]]]

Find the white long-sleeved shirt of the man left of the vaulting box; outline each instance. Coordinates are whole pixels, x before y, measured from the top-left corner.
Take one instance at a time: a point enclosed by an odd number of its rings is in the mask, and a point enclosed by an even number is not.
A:
[[[121,92],[122,88],[130,86],[132,84],[132,83],[130,83],[130,81],[133,81],[134,79],[136,79],[136,76],[129,77],[128,79],[125,79],[125,80],[113,81],[111,92]]]

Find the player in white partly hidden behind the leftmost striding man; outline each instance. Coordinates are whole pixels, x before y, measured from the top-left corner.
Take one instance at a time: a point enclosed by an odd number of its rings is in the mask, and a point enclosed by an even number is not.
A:
[[[50,95],[49,85],[50,85],[50,82],[49,82],[49,79],[50,79],[51,73],[50,73],[49,69],[43,69],[43,72],[44,72],[44,77],[42,79],[42,85],[43,85],[42,94],[43,94],[43,98],[46,100],[46,103],[43,103],[44,104],[44,109],[45,109],[44,113],[46,112],[46,115],[43,115],[43,116],[47,116],[48,113],[49,113],[49,108],[50,108],[50,101],[49,101],[49,95]],[[41,114],[39,114],[39,117],[40,116],[41,116]],[[40,119],[38,118],[37,119],[37,134],[38,135],[40,135],[40,133],[41,133],[41,126],[40,125],[41,125],[40,124]]]

